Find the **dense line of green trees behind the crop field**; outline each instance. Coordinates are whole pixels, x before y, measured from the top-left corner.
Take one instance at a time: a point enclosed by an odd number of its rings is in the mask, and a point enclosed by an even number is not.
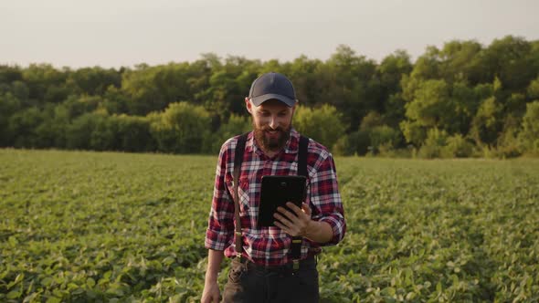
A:
[[[539,154],[539,41],[453,40],[412,62],[339,46],[327,60],[204,54],[134,68],[0,65],[0,146],[215,153],[248,131],[253,79],[291,78],[293,125],[340,155]]]

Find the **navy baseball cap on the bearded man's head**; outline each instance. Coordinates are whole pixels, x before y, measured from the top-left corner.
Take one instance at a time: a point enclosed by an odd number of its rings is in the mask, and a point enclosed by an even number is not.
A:
[[[289,107],[298,101],[291,80],[280,73],[266,73],[253,81],[248,92],[255,106],[259,106],[270,99],[278,99]]]

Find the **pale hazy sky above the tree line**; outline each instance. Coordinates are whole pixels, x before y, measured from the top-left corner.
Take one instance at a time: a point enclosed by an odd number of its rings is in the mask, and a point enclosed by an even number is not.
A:
[[[452,39],[539,39],[537,0],[0,0],[0,64],[132,67],[220,57],[380,61]]]

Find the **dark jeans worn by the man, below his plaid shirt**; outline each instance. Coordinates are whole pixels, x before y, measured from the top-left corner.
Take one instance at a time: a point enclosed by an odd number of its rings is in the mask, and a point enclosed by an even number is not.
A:
[[[291,265],[257,266],[232,259],[228,281],[223,290],[223,302],[318,302],[318,271],[312,256],[302,260],[300,269]]]

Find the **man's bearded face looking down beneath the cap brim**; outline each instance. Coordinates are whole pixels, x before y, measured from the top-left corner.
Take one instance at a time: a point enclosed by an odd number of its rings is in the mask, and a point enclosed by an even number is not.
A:
[[[290,137],[294,107],[280,100],[271,99],[255,106],[245,99],[247,110],[253,118],[255,139],[264,151],[280,151]]]

